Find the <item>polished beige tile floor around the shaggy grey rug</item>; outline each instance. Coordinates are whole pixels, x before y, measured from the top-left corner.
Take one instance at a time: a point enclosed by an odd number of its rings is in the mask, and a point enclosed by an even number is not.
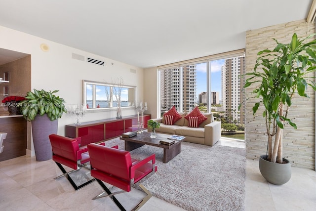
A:
[[[245,147],[244,142],[224,138],[217,144]],[[91,200],[102,192],[97,182],[75,191],[65,178],[52,179],[59,174],[52,160],[36,162],[35,157],[22,156],[0,162],[0,211],[118,211],[108,197]],[[245,188],[246,211],[316,211],[314,170],[293,167],[291,180],[276,186],[261,176],[258,161],[247,160]],[[133,189],[118,200],[130,209],[143,196]],[[183,211],[155,197],[140,210]]]

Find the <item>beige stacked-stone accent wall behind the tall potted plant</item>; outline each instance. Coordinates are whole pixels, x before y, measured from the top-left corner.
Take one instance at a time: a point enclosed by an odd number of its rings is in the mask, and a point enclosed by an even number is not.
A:
[[[257,52],[263,49],[273,49],[276,42],[289,43],[292,35],[304,38],[315,33],[315,22],[306,23],[305,20],[278,24],[271,27],[247,31],[246,33],[246,73],[252,72],[257,59]],[[315,74],[313,74],[314,76]],[[251,90],[257,85],[246,88],[246,98],[251,96]],[[315,169],[315,91],[308,90],[308,98],[293,100],[290,108],[292,119],[297,129],[286,126],[283,130],[283,157],[290,160],[295,167]],[[252,114],[252,106],[257,100],[251,99],[246,102],[245,141],[246,153],[249,159],[258,159],[266,154],[267,136],[265,120],[262,117],[263,109],[259,109],[255,116]]]

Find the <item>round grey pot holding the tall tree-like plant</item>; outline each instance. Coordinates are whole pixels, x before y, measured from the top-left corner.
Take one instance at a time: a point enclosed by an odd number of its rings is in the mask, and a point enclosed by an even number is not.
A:
[[[283,185],[288,182],[292,175],[291,163],[283,158],[286,164],[277,164],[265,160],[267,155],[260,156],[259,169],[262,176],[270,183]]]

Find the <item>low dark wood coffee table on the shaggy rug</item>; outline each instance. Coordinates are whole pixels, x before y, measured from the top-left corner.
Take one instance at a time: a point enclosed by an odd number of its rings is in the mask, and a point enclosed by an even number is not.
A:
[[[119,139],[125,141],[125,150],[126,151],[132,151],[136,148],[139,148],[141,146],[151,145],[163,148],[163,163],[168,163],[172,158],[174,158],[176,155],[178,155],[181,152],[181,141],[175,141],[174,144],[168,146],[165,144],[160,144],[159,141],[163,139],[167,139],[170,135],[168,134],[161,134],[157,133],[157,138],[151,138],[150,132],[143,132],[138,133],[137,136],[131,137],[131,138],[123,138],[120,137]]]

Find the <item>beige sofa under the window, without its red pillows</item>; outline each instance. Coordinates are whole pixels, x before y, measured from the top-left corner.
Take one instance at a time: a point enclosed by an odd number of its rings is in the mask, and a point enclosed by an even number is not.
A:
[[[181,119],[174,123],[174,125],[164,125],[164,118],[153,119],[160,123],[160,127],[156,128],[156,132],[165,134],[177,134],[185,136],[187,142],[204,144],[213,146],[221,138],[221,122],[216,122],[213,119],[212,113],[202,113],[207,120],[202,122],[199,127],[188,127],[189,122],[184,117],[187,113],[181,113]],[[148,127],[151,132],[151,128]]]

